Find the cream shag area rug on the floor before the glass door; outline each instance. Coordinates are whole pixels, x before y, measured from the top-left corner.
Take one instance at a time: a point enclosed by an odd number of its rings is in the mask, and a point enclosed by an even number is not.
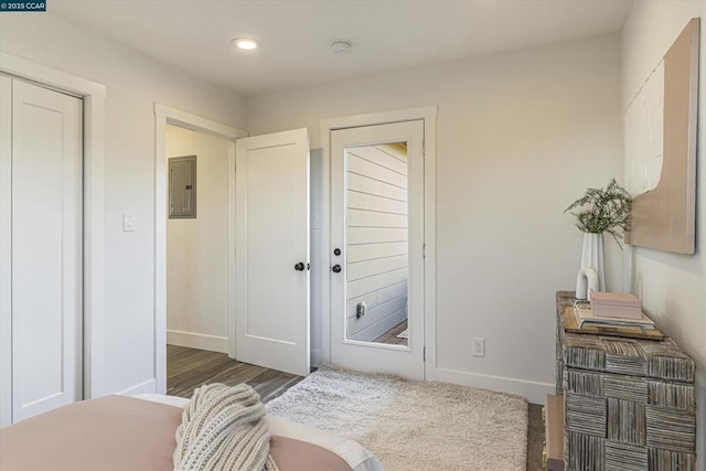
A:
[[[266,405],[269,414],[352,438],[386,471],[524,471],[524,398],[325,365]]]

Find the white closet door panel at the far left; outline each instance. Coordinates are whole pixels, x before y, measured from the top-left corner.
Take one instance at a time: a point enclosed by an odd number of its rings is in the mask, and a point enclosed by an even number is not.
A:
[[[82,398],[82,126],[81,99],[13,81],[13,421]]]

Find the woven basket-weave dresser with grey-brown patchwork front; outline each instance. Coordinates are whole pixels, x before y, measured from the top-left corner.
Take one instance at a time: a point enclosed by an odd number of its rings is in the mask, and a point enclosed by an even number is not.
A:
[[[566,332],[557,292],[557,394],[570,471],[694,471],[694,361],[663,341]]]

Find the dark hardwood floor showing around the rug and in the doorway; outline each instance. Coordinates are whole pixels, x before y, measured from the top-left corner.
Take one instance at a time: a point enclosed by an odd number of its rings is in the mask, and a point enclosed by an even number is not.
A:
[[[194,389],[203,384],[236,385],[246,383],[257,390],[263,403],[267,403],[281,396],[301,379],[303,379],[301,376],[236,362],[228,358],[225,353],[167,345],[167,394],[172,396],[191,397]],[[531,404],[527,430],[527,471],[543,469],[543,442],[542,406]]]

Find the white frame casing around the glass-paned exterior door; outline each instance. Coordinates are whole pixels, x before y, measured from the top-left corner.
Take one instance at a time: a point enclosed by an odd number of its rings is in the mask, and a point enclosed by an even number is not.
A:
[[[331,362],[331,132],[374,125],[387,125],[402,121],[424,121],[424,331],[425,331],[425,372],[436,366],[436,121],[437,107],[426,106],[396,111],[373,113],[320,121],[321,147],[323,148],[323,169],[321,172],[321,254],[319,283],[321,286],[321,360]],[[318,362],[314,362],[318,364]],[[427,376],[428,373],[425,373]]]

